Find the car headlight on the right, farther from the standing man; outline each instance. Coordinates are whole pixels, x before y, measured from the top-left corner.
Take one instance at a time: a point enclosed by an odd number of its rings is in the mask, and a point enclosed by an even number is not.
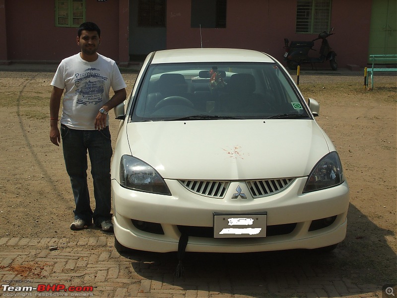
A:
[[[332,151],[321,159],[306,182],[303,193],[329,188],[344,182],[342,164],[338,153]]]

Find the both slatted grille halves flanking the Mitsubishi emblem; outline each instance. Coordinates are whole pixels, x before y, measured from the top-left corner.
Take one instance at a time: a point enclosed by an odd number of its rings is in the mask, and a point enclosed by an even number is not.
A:
[[[247,180],[246,184],[253,198],[262,198],[284,190],[294,179]],[[230,184],[230,181],[207,180],[179,180],[179,182],[196,194],[217,199],[223,198]]]

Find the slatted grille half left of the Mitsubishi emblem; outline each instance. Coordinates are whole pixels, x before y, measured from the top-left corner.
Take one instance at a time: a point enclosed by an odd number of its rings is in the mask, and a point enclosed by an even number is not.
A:
[[[221,199],[229,187],[229,181],[179,180],[190,191],[211,198]]]

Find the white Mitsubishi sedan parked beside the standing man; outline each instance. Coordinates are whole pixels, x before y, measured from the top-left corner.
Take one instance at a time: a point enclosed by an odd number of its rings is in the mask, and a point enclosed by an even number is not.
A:
[[[318,103],[271,56],[238,49],[149,54],[112,163],[119,250],[335,248],[349,188]]]

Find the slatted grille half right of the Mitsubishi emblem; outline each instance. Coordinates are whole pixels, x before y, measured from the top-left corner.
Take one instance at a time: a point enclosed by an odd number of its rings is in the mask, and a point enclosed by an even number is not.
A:
[[[295,178],[250,180],[246,183],[253,198],[262,198],[284,190],[294,179]]]

